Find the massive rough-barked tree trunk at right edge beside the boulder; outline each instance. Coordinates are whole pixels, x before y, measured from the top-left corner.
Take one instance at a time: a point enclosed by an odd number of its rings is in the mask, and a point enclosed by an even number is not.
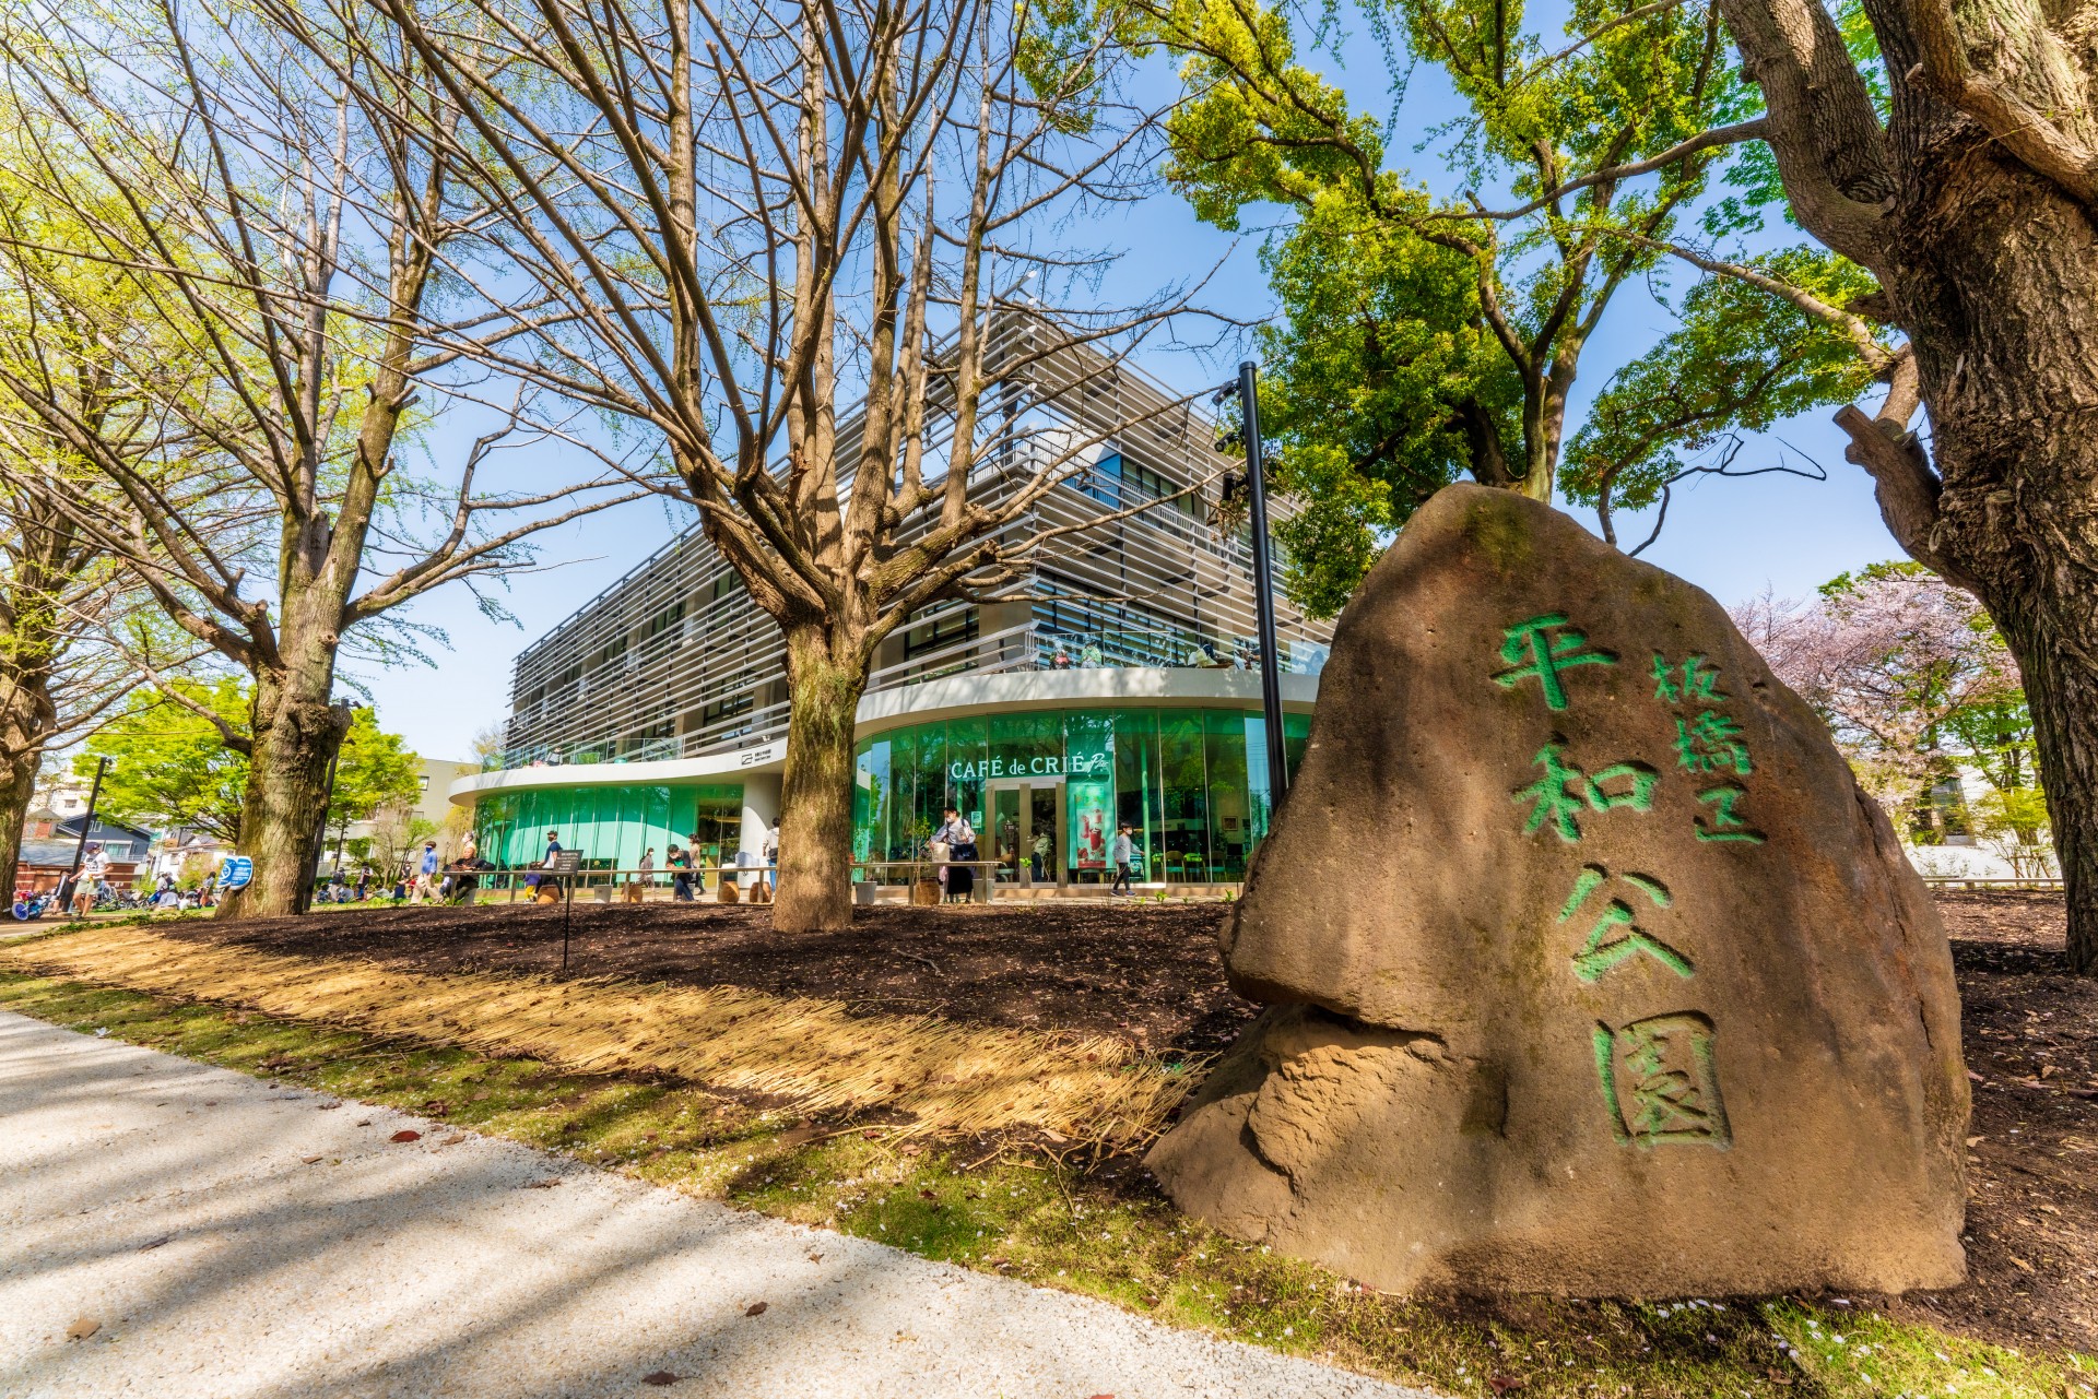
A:
[[[1913,94],[1890,136],[1892,294],[1943,476],[1934,518],[1903,543],[1974,589],[2025,671],[2069,956],[2098,973],[2098,229]]]

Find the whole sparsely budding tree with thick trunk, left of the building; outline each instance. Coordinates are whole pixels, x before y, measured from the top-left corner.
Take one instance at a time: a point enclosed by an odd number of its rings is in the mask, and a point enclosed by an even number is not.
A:
[[[543,489],[483,482],[535,432],[516,401],[476,409],[504,386],[457,371],[445,346],[464,327],[499,344],[558,313],[474,294],[455,258],[491,210],[462,197],[459,113],[361,19],[329,29],[164,0],[122,17],[29,4],[0,23],[17,109],[48,117],[13,174],[82,231],[40,252],[130,275],[128,315],[183,371],[126,357],[120,375],[220,461],[220,503],[271,522],[260,547],[229,539],[67,394],[0,367],[120,508],[31,485],[254,680],[248,730],[222,728],[252,759],[241,849],[256,877],[220,917],[296,904],[346,732],[331,703],[344,636],[445,583],[527,566],[531,535],[642,493],[611,457]],[[462,415],[489,430],[443,445],[449,472],[418,474],[434,424]]]

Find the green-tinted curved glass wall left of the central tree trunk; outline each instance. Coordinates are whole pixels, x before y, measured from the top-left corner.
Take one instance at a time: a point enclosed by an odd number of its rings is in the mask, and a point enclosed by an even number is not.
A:
[[[474,805],[480,858],[499,868],[539,864],[548,831],[560,833],[562,849],[583,854],[585,870],[631,870],[646,849],[665,868],[673,841],[694,849],[694,864],[734,862],[743,784],[569,787],[497,793]]]

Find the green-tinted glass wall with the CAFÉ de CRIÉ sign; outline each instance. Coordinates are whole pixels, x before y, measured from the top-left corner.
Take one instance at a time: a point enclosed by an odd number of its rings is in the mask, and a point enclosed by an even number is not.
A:
[[[1288,713],[1282,724],[1294,772],[1311,717]],[[862,742],[856,780],[856,860],[915,858],[944,805],[959,808],[990,849],[986,782],[1062,782],[1062,862],[1080,883],[1114,877],[1106,856],[1122,822],[1133,826],[1143,881],[1244,879],[1271,810],[1261,715],[1242,709],[1083,709],[921,724]]]

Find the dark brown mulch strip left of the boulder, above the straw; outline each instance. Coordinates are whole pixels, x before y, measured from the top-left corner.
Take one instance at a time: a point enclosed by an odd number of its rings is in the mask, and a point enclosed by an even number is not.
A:
[[[497,896],[501,898],[501,896]],[[1223,904],[1057,900],[854,910],[843,933],[783,938],[747,904],[577,904],[571,975],[743,986],[854,1011],[1072,1030],[1148,1053],[1215,1053],[1259,1011],[1223,984]],[[168,935],[365,956],[415,971],[560,971],[560,910],[355,908]]]

